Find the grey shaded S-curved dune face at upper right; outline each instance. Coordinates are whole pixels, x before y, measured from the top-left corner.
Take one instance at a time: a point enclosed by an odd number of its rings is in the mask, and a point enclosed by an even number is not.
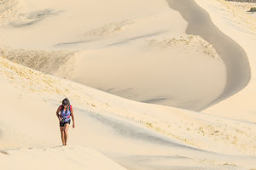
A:
[[[203,8],[199,7],[193,0],[167,0],[171,8],[182,14],[183,19],[188,21],[189,26],[186,32],[192,35],[199,35],[207,42],[212,43],[213,48],[224,60],[227,71],[227,79],[224,91],[210,104],[204,105],[199,111],[217,104],[218,102],[236,94],[247,86],[250,81],[251,72],[247,54],[241,46],[226,36],[212,23],[210,15]]]

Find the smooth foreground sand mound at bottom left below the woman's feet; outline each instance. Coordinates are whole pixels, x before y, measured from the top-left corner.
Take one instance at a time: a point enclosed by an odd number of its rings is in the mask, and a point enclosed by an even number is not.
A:
[[[0,150],[0,159],[8,169],[125,169],[96,150],[80,146]]]

